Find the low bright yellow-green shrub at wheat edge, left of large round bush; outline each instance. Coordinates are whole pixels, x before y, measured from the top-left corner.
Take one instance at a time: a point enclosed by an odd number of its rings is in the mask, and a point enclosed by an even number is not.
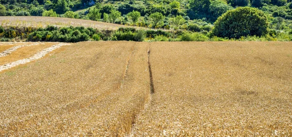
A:
[[[183,33],[181,36],[181,41],[207,41],[209,38],[198,32],[194,33]]]

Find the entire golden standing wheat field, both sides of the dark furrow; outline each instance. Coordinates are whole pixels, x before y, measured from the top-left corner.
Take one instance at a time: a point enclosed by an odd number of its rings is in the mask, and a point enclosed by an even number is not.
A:
[[[292,137],[291,42],[81,42],[0,73],[3,137]]]

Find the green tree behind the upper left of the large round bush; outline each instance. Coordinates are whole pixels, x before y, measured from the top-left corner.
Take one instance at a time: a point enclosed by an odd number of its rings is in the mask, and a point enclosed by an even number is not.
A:
[[[228,10],[232,10],[233,7],[226,4],[225,2],[223,2],[222,0],[214,0],[211,1],[210,7],[209,7],[209,12],[211,14],[211,20],[212,21],[216,21],[217,18],[226,13]]]

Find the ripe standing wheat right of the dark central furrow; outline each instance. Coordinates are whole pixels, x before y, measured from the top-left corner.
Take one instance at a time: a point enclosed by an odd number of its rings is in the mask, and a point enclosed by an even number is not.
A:
[[[291,42],[151,43],[136,136],[292,136]]]

